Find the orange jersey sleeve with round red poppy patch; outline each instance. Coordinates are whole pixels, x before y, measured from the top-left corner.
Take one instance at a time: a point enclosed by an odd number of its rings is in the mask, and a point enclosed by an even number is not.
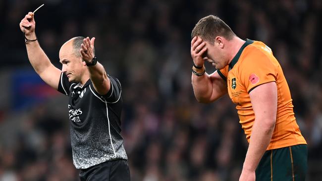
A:
[[[271,57],[258,51],[242,62],[240,77],[247,92],[250,92],[259,85],[276,82],[277,67]]]

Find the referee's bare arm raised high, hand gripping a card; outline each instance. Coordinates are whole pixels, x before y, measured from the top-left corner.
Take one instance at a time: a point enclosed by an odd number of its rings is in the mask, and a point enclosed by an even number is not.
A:
[[[29,12],[20,22],[19,26],[28,40],[36,40],[36,22],[32,12]],[[61,71],[57,69],[49,60],[38,41],[27,41],[26,48],[28,58],[37,74],[52,88],[58,89]]]

